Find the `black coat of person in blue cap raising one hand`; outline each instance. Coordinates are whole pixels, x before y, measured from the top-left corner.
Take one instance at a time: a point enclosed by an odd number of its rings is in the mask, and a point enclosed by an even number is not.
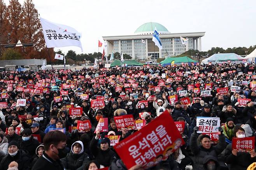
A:
[[[90,150],[93,156],[95,157],[95,160],[100,163],[100,165],[103,165],[104,167],[109,167],[116,159],[116,154],[111,151],[110,149],[107,149],[106,151],[101,150],[100,148],[97,147],[98,139],[93,139],[91,140],[90,144]]]

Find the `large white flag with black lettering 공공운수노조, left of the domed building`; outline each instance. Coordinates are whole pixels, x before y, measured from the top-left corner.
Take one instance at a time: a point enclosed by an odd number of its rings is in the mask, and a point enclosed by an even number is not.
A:
[[[82,50],[81,34],[74,28],[40,18],[47,48],[77,46]]]

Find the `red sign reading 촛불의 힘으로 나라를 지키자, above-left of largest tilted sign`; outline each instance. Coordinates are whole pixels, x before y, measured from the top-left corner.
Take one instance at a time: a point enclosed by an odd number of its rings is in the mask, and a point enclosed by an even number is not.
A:
[[[116,127],[119,131],[121,131],[123,128],[128,128],[129,130],[136,129],[132,114],[114,116],[114,121],[116,122]]]

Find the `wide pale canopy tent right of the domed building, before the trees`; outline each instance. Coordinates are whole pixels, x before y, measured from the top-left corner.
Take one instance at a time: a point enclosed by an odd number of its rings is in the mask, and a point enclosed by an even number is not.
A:
[[[224,61],[242,61],[244,57],[238,56],[235,53],[218,53],[203,59],[201,64],[208,64],[209,62],[218,63]]]

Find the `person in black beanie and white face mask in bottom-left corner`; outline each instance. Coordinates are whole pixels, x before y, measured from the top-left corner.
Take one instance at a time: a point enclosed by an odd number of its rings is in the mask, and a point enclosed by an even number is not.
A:
[[[7,170],[12,161],[18,163],[19,170],[28,170],[30,167],[30,157],[25,151],[19,149],[19,144],[16,141],[11,141],[8,144],[8,155],[0,162],[0,170]]]

